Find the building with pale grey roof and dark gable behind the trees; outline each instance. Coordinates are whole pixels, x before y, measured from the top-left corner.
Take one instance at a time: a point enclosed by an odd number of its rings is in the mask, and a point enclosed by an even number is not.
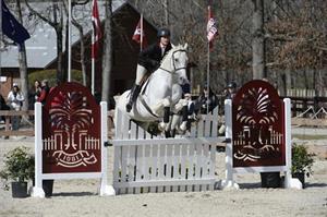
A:
[[[105,2],[98,2],[100,19],[104,20]],[[41,7],[39,3],[37,7]],[[43,7],[46,5],[43,3]],[[89,14],[89,20],[83,20],[85,24],[84,41],[86,47],[85,55],[87,60],[87,74],[90,77],[90,5],[85,5],[81,10],[81,17]],[[126,1],[112,1],[112,45],[113,45],[113,68],[111,73],[111,89],[110,95],[123,93],[130,88],[135,79],[135,69],[137,63],[137,56],[140,52],[140,45],[132,40],[133,33],[140,21],[140,12]],[[104,22],[101,23],[104,27]],[[146,33],[147,41],[156,40],[157,29],[149,22],[144,20],[144,32]],[[72,28],[72,69],[81,70],[80,57],[80,38],[77,31]],[[100,41],[102,47],[104,37]],[[38,27],[26,40],[27,51],[27,67],[28,73],[43,69],[57,69],[57,40],[55,29],[46,23],[38,24]],[[1,89],[0,93],[7,96],[13,82],[19,82],[19,61],[17,48],[10,47],[8,51],[1,53]],[[101,91],[101,56],[102,49],[99,51],[99,59],[96,61],[96,79],[95,89]],[[66,59],[66,55],[64,56]]]

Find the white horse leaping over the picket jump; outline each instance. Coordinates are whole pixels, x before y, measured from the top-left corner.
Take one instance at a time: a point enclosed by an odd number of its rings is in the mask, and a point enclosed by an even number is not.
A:
[[[185,106],[184,99],[181,99],[181,85],[187,82],[186,49],[187,44],[172,46],[172,49],[162,59],[159,69],[143,85],[132,110],[126,112],[131,119],[142,122],[143,128],[147,128],[154,121],[162,121],[159,124],[159,129],[165,130],[169,122],[170,111],[178,112]],[[129,95],[130,91],[126,91],[119,97],[116,109],[125,112]],[[186,128],[186,121],[183,122],[181,128]]]

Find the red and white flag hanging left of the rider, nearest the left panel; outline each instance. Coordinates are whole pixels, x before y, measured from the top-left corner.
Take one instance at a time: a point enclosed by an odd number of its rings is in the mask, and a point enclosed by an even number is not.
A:
[[[93,22],[92,58],[95,59],[98,57],[99,41],[100,38],[102,37],[97,0],[93,0],[92,2],[92,22]]]

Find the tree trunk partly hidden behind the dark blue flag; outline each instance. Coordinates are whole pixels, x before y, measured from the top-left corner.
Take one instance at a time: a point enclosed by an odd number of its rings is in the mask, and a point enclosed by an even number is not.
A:
[[[19,21],[20,21],[20,23],[23,24],[21,0],[16,0],[16,4],[17,4],[16,10],[17,10],[17,14],[19,14]],[[19,47],[20,47],[19,62],[20,62],[21,91],[25,98],[22,110],[26,111],[26,110],[28,110],[27,58],[26,58],[25,44],[23,43]]]

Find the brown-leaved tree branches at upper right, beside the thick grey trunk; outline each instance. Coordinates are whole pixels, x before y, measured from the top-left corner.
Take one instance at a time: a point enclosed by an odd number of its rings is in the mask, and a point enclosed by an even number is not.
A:
[[[276,0],[276,4],[278,19],[267,23],[266,28],[271,48],[268,65],[286,71],[284,91],[291,87],[291,81],[295,87],[323,91],[327,77],[316,81],[315,72],[327,64],[327,2]]]

